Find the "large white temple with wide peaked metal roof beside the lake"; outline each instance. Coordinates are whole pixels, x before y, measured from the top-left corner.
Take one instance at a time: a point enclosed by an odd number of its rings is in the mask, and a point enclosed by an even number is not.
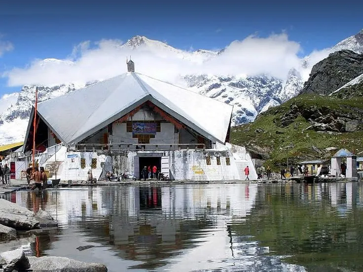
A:
[[[32,108],[23,146],[36,163],[63,180],[85,180],[87,171],[141,178],[156,166],[176,180],[250,179],[257,175],[242,146],[229,144],[232,106],[134,72],[95,83]]]

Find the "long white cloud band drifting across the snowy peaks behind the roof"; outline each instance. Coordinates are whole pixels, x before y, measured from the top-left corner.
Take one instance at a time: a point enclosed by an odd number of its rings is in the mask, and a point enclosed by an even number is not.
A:
[[[266,38],[251,35],[233,41],[222,54],[212,58],[205,53],[182,51],[158,41],[147,40],[146,44],[132,49],[122,46],[120,40],[85,41],[70,50],[65,60],[35,60],[27,67],[13,68],[3,76],[8,78],[9,86],[102,80],[125,72],[126,57],[130,55],[136,71],[170,81],[188,73],[268,73],[284,79],[290,68],[298,68],[301,63],[297,56],[300,44],[289,40],[286,33]]]

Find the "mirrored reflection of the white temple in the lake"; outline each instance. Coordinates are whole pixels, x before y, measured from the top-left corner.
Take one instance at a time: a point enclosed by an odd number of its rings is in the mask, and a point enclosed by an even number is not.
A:
[[[256,192],[256,184],[120,186],[51,190],[47,202],[18,192],[16,202],[41,207],[58,219],[60,228],[99,237],[97,242],[121,258],[151,268],[195,246],[195,239],[211,229],[246,217]],[[41,243],[36,247],[43,249]]]

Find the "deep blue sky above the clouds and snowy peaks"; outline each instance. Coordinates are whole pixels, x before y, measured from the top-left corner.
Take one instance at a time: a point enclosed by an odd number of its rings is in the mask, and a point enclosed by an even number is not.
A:
[[[122,3],[123,2],[123,3]],[[358,1],[12,1],[0,4],[1,40],[13,50],[0,57],[0,73],[24,68],[35,59],[70,55],[85,41],[139,35],[181,48],[223,48],[250,34],[268,36],[286,31],[303,52],[330,47],[362,28]],[[273,6],[271,6],[273,5]],[[20,90],[0,78],[0,96]]]

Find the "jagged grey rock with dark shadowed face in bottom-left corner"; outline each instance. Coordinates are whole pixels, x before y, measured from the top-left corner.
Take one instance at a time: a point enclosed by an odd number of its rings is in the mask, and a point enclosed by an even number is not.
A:
[[[0,253],[0,264],[4,272],[24,271],[30,268],[29,260],[21,248]]]

